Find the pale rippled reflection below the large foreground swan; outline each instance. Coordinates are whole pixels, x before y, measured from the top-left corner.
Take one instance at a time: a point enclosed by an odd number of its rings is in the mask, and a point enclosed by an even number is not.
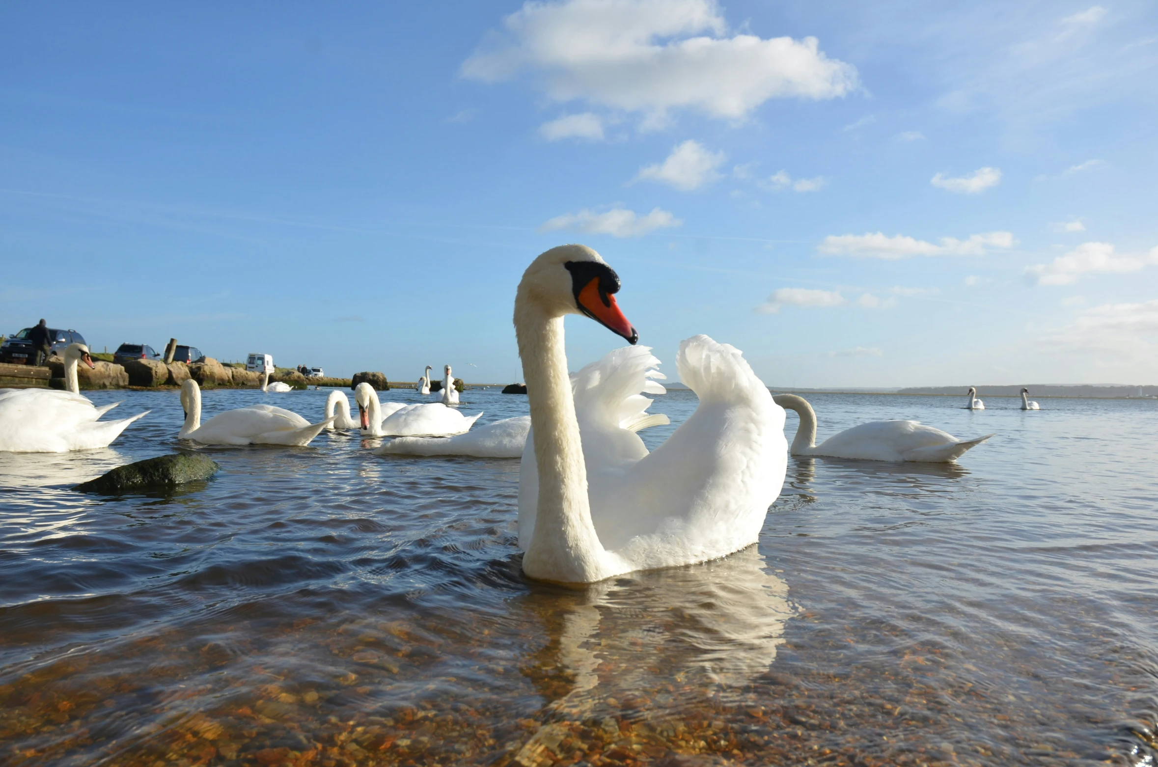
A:
[[[675,689],[742,686],[776,660],[797,612],[755,545],[580,591],[541,587],[522,606],[542,615],[549,637],[522,671],[566,718],[608,699],[646,696],[662,708]]]

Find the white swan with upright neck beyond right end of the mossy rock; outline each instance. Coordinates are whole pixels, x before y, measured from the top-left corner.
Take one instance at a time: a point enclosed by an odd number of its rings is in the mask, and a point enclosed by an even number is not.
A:
[[[189,379],[181,385],[185,424],[177,434],[203,445],[308,445],[332,421],[309,423],[296,412],[270,404],[219,412],[201,425],[201,388]]]

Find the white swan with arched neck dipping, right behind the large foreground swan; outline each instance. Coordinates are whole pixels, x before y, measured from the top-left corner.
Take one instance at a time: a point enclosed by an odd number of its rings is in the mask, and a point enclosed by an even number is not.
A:
[[[816,445],[816,414],[808,401],[796,394],[778,394],[772,400],[782,408],[796,410],[800,416],[800,425],[797,426],[797,436],[790,450],[793,455],[946,463],[992,437],[985,434],[961,440],[916,421],[873,421],[845,429]]]

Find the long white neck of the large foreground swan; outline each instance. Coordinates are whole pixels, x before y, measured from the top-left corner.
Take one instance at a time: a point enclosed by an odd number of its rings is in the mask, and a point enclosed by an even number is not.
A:
[[[606,572],[604,549],[591,521],[563,317],[550,316],[520,291],[514,326],[538,463],[535,532],[523,555],[523,572],[563,583],[600,580]]]

